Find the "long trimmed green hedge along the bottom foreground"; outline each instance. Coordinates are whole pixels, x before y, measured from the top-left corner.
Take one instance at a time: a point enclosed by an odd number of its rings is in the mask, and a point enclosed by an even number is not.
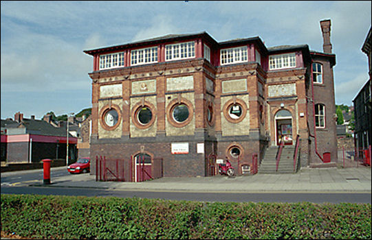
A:
[[[371,239],[371,204],[1,194],[1,231],[37,239]]]

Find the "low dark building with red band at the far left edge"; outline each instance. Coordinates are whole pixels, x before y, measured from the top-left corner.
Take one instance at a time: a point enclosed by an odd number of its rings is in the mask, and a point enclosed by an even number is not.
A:
[[[69,159],[76,160],[77,137],[69,134]],[[6,163],[39,163],[42,159],[66,159],[67,132],[55,126],[50,117],[43,120],[23,118],[17,112],[12,119],[1,119],[1,160]]]

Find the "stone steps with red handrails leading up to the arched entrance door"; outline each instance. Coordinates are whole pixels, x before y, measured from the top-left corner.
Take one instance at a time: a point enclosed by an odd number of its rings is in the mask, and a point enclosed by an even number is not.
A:
[[[266,150],[259,167],[259,173],[295,173],[293,170],[294,146],[283,147],[281,160],[279,160],[278,171],[276,171],[276,153],[278,147],[269,147]]]

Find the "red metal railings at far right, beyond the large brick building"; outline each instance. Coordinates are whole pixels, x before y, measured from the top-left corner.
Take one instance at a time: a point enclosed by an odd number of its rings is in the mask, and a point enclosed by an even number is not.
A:
[[[368,148],[342,147],[337,152],[340,167],[371,167],[371,145]]]

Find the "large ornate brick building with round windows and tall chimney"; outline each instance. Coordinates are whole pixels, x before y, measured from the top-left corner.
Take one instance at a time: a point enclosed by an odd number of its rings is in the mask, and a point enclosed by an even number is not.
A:
[[[135,166],[144,154],[149,164],[163,158],[164,176],[210,176],[215,154],[241,174],[253,154],[299,135],[300,166],[336,163],[331,21],[320,27],[324,52],[259,37],[218,43],[206,32],[84,51],[93,56],[91,159]]]

